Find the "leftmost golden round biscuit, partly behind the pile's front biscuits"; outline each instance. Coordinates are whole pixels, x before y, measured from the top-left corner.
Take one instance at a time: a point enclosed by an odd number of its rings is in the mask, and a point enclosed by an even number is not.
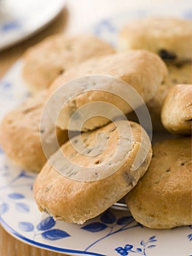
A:
[[[26,99],[22,105],[7,113],[0,125],[2,149],[13,162],[28,170],[39,171],[47,161],[42,151],[40,132],[42,139],[47,141],[50,154],[54,152],[51,125],[46,123],[45,129],[39,130],[45,94],[43,91],[36,97]],[[57,135],[58,143],[66,142],[66,131],[57,129]]]

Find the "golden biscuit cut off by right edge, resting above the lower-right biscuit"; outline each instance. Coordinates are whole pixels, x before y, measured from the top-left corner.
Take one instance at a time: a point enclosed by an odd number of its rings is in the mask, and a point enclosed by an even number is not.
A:
[[[164,127],[173,133],[191,134],[192,85],[174,86],[164,100],[161,112]]]

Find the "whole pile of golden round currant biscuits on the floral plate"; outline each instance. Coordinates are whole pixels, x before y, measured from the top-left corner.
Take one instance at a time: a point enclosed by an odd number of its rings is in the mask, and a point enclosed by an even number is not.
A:
[[[28,49],[23,78],[33,96],[4,116],[1,147],[20,167],[39,172],[34,198],[39,210],[55,219],[82,224],[124,197],[134,219],[146,227],[192,225],[192,22],[133,20],[117,36],[116,51],[87,34],[55,35]],[[94,82],[96,75],[109,80]],[[121,91],[117,80],[139,93],[153,135],[168,130],[168,140],[151,146],[137,121],[118,116],[115,121],[93,116],[78,134],[76,124],[69,130],[74,113],[93,102],[106,102],[131,116],[132,108],[110,95],[112,89]],[[55,91],[59,94],[53,97]],[[63,101],[67,103],[54,122],[52,115]],[[42,118],[47,104],[53,112]],[[74,132],[70,140],[69,132]],[[87,170],[93,170],[93,179],[83,179]]]

